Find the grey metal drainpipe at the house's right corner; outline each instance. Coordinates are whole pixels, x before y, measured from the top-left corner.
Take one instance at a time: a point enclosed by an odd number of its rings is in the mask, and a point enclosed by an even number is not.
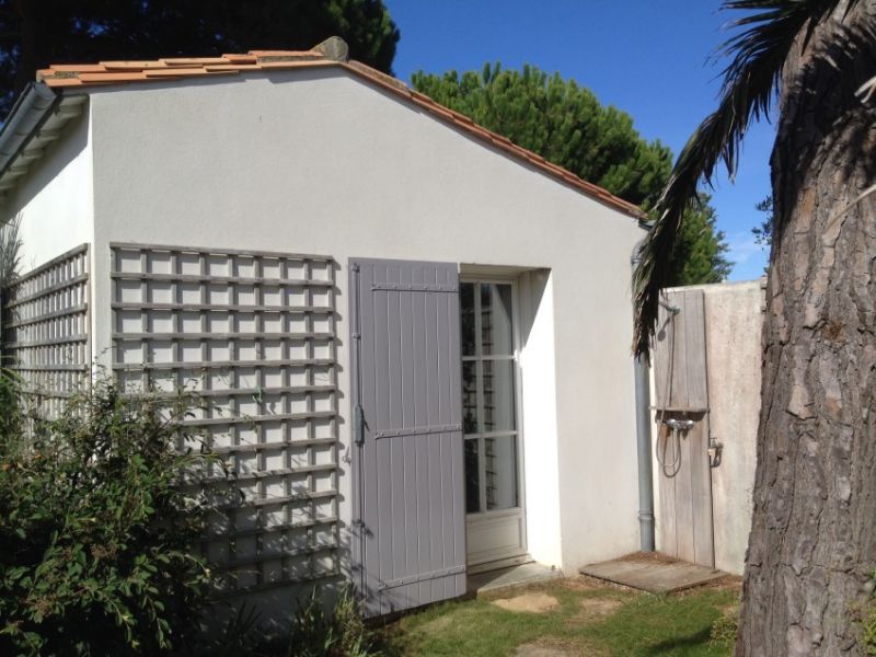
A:
[[[635,268],[642,242],[636,244],[630,264]],[[654,552],[654,480],[650,461],[650,377],[648,361],[635,359],[636,451],[638,453],[638,532],[642,552]]]

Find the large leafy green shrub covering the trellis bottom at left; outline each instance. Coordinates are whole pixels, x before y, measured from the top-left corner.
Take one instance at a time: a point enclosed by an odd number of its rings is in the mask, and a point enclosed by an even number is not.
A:
[[[0,414],[15,412],[14,387],[3,377]],[[189,645],[210,573],[191,553],[206,510],[180,488],[209,457],[174,450],[188,406],[99,381],[26,447],[20,425],[0,424],[0,654]]]

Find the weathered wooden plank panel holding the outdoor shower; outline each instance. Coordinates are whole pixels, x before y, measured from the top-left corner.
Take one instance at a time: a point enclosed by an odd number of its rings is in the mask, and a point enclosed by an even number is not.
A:
[[[702,290],[664,293],[654,357],[661,551],[714,566]]]

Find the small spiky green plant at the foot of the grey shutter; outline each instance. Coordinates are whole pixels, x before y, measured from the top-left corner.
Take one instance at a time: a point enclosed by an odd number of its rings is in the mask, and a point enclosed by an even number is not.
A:
[[[325,613],[316,588],[300,601],[289,632],[289,657],[368,657],[379,655],[376,638],[362,623],[359,601],[345,587],[332,613]]]

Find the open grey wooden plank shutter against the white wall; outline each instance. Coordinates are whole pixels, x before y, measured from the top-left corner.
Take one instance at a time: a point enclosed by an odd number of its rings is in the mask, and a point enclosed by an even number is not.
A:
[[[350,262],[354,569],[366,615],[465,592],[457,266]]]

